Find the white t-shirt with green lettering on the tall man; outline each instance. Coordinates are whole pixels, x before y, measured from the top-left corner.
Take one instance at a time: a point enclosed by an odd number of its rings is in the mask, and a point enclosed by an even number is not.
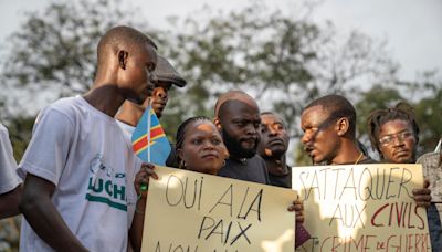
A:
[[[113,117],[83,97],[44,108],[19,165],[55,185],[52,202],[91,251],[126,251],[136,159]],[[23,219],[20,251],[52,251]]]

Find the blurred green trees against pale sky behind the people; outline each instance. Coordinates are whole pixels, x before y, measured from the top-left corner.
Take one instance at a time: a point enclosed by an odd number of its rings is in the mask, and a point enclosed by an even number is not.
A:
[[[333,23],[309,21],[314,4],[299,8],[298,13],[306,14],[287,15],[262,2],[231,12],[206,7],[199,14],[171,18],[166,29],[148,23],[120,0],[54,1],[43,11],[28,12],[25,22],[2,44],[0,60],[0,119],[10,130],[17,160],[30,140],[38,108],[90,88],[97,41],[119,24],[149,34],[188,81],[185,88],[170,91],[161,119],[172,141],[185,118],[211,117],[218,95],[240,88],[256,97],[261,111],[276,112],[286,120],[291,165],[311,164],[298,143],[303,106],[330,93],[355,104],[358,137],[367,147],[369,113],[409,103],[421,127],[419,151],[431,151],[442,135],[438,73],[400,80],[400,65],[386,52],[387,41],[358,31],[340,34]],[[11,220],[0,225],[3,231],[18,227]],[[1,235],[0,250],[17,250],[17,239]]]

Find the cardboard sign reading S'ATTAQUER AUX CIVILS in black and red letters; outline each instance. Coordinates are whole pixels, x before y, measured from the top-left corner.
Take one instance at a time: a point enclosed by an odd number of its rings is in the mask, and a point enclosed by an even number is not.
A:
[[[431,251],[420,165],[292,168],[312,239],[297,251]]]

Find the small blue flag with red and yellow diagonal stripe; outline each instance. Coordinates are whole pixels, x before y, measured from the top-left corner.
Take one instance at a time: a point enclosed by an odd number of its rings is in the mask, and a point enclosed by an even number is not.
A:
[[[138,122],[131,135],[131,146],[143,161],[166,165],[171,147],[151,106],[146,108]]]

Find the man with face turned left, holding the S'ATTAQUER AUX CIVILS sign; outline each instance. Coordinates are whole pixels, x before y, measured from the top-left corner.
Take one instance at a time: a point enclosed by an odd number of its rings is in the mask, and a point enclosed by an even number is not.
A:
[[[358,147],[356,111],[344,96],[326,95],[309,103],[301,115],[301,128],[304,132],[301,141],[315,165],[377,162],[365,156]],[[397,156],[402,157],[402,155]],[[429,183],[425,181],[424,188],[413,189],[418,206],[430,206],[431,190],[428,189],[428,186]]]

